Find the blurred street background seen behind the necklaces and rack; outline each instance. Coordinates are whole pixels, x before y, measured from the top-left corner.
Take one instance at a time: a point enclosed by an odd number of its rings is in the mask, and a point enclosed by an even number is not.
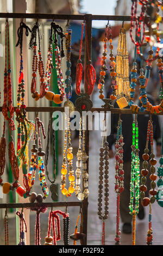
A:
[[[131,13],[131,1],[130,0],[115,0],[115,1],[106,1],[106,0],[0,0],[0,12],[1,13],[48,13],[48,14],[97,14],[97,15],[130,15]],[[138,5],[137,15],[140,14],[140,5]],[[35,20],[28,19],[26,20],[27,25],[32,28],[33,23]],[[41,40],[41,50],[43,56],[43,62],[46,65],[47,60],[47,52],[48,52],[48,42],[49,42],[49,29],[51,21],[42,20],[41,21],[40,30],[43,34],[43,38]],[[67,21],[56,21],[59,25],[62,26],[64,32],[66,32],[66,24]],[[12,22],[12,19],[9,19],[10,25],[10,54],[11,54],[11,69],[12,69],[12,92],[13,92],[13,102],[14,106],[16,106],[16,88],[17,88],[17,79],[18,79],[18,54],[19,49],[15,49],[15,44],[17,42],[17,31],[16,27],[18,27],[20,20]],[[95,67],[97,80],[95,84],[95,90],[92,94],[92,101],[93,107],[100,107],[103,102],[98,98],[98,79],[99,79],[99,72],[100,72],[100,60],[102,57],[103,52],[103,38],[104,38],[104,30],[105,26],[108,21],[92,21],[92,65]],[[114,22],[110,21],[112,27],[112,39],[113,39],[113,46],[114,46],[114,54],[116,56],[116,49],[118,44],[118,34],[120,32],[120,28],[122,26],[122,22]],[[130,22],[124,23],[127,30],[127,48],[129,52],[129,65],[131,68],[133,57],[134,57],[134,44],[130,40],[129,36],[129,28]],[[73,94],[72,94],[72,101],[74,102],[77,99],[77,95],[75,93],[75,80],[76,80],[76,65],[77,60],[79,57],[79,46],[80,46],[80,36],[82,31],[82,21],[70,21],[70,28],[72,29],[72,53],[71,53],[71,63],[72,63],[72,86],[73,86]],[[160,26],[162,29],[162,25]],[[2,45],[3,51],[1,52],[1,63],[0,63],[0,90],[1,90],[1,106],[3,105],[3,74],[4,74],[4,51],[5,51],[5,20],[0,19],[0,44]],[[28,106],[55,106],[52,102],[41,99],[39,101],[35,101],[31,94],[30,94],[30,83],[32,80],[32,57],[33,51],[28,49],[29,39],[27,38],[27,42],[24,39],[23,45],[23,58],[24,63],[26,65],[26,80],[25,83],[28,85],[28,92],[26,92],[26,104]],[[83,39],[84,41],[85,39]],[[147,56],[148,48],[146,47],[143,49],[143,53]],[[109,53],[108,53],[109,54]],[[109,58],[108,58],[109,59]],[[83,49],[82,49],[82,60],[84,65],[84,42],[83,42]],[[107,63],[109,69],[109,62]],[[65,58],[62,59],[62,72],[65,78]],[[52,81],[51,81],[51,88],[49,90],[53,90],[53,92],[57,93],[57,84],[55,83],[56,72],[53,72]],[[83,83],[84,81],[82,81]],[[38,86],[38,83],[37,83]],[[83,87],[83,84],[82,84]],[[154,98],[155,105],[159,102],[159,92],[160,92],[160,82],[159,77],[157,75],[156,65],[152,69],[151,79],[148,86],[148,93],[151,94]],[[111,80],[108,75],[105,78],[105,97],[109,96],[111,93]],[[34,120],[36,113],[28,113],[28,119]],[[3,123],[3,115],[0,113],[1,121]],[[39,118],[43,121],[45,126],[45,131],[47,134],[47,126],[48,120],[50,115],[48,113],[39,113]],[[162,117],[159,116],[160,126],[162,124]],[[2,126],[0,127],[0,133],[2,135]],[[62,146],[64,142],[64,131],[59,131],[56,133],[57,135],[57,181],[58,184],[58,191],[59,191],[59,201],[64,201],[67,198],[61,196],[60,193],[60,168],[61,168],[61,161],[62,161]],[[102,233],[102,223],[98,219],[97,216],[97,197],[98,197],[98,162],[99,162],[99,148],[101,147],[101,131],[91,131],[90,132],[90,162],[89,162],[89,215],[88,215],[88,234],[87,234],[87,242],[89,245],[101,245],[101,233]],[[42,138],[42,148],[46,148],[46,143],[43,141]],[[33,142],[29,143],[29,149],[32,148]],[[78,133],[72,132],[72,145],[74,150],[74,166],[76,166],[76,153],[78,150]],[[29,150],[30,156],[30,150]],[[49,174],[53,175],[53,158],[52,158],[52,149],[50,150],[49,156],[49,164],[48,170]],[[114,160],[110,159],[110,166],[109,166],[109,218],[106,221],[106,244],[114,245],[114,236],[116,230],[116,194],[114,192]],[[7,162],[6,172],[3,176],[3,180],[9,180],[12,182],[12,174],[10,170],[10,166]],[[48,183],[48,181],[47,181]],[[49,185],[49,184],[48,184]],[[36,176],[34,190],[36,193],[41,192],[41,188],[39,186],[39,178]],[[2,197],[2,193],[1,193]],[[15,198],[14,193],[7,194],[7,196],[3,195],[3,198],[0,199],[0,203],[12,203],[17,200]],[[51,193],[49,193],[48,202],[51,201]],[[68,200],[78,200],[76,196],[72,196],[68,198]],[[64,210],[64,209],[61,209]],[[41,243],[43,244],[43,239],[47,233],[48,227],[48,212],[46,214],[42,214],[40,217],[41,223]],[[73,233],[76,219],[78,216],[79,209],[73,208],[68,209],[70,213],[70,233]],[[156,236],[156,243],[163,243],[160,237],[163,235],[162,225],[160,223],[160,208],[156,205],[156,210],[154,214],[155,230],[154,235]],[[0,218],[1,218],[1,229],[3,227],[3,220],[4,220],[4,210],[0,210]],[[148,229],[148,217],[143,221],[137,222],[137,230],[136,232],[136,243],[141,245],[145,244],[146,242],[146,232]],[[34,212],[30,212],[30,244],[34,245],[34,224],[35,224],[35,214]],[[157,231],[157,233],[156,233]],[[70,242],[72,243],[72,241]],[[131,243],[131,235],[122,234],[122,244],[129,245]],[[0,244],[4,244],[4,237],[3,233],[0,235]],[[15,245],[16,244],[16,222],[15,222],[15,211],[9,211],[9,244]],[[58,243],[59,244],[59,243]],[[61,242],[60,242],[61,244]]]

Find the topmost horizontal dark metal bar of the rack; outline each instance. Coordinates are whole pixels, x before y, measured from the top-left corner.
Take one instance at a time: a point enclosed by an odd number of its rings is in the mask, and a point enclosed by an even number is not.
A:
[[[88,14],[40,14],[40,13],[0,13],[0,18],[46,19],[46,20],[85,20]],[[90,15],[90,14],[89,14]],[[91,20],[130,21],[131,16],[90,15]],[[148,17],[146,17],[148,19]]]

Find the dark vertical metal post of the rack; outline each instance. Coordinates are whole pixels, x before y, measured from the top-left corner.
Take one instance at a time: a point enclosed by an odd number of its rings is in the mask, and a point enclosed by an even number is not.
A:
[[[85,15],[85,25],[87,28],[87,40],[85,36],[85,57],[84,63],[91,60],[91,50],[92,50],[92,15]],[[89,51],[90,59],[88,59],[87,48]],[[86,84],[84,83],[84,91],[86,90]],[[88,130],[88,120],[86,120],[86,131],[85,131],[85,151],[89,156],[89,130]],[[89,158],[87,159],[87,173],[89,173]],[[82,204],[82,212],[83,212],[83,233],[86,234],[84,238],[84,245],[87,245],[87,210],[88,210],[88,198],[83,200]]]

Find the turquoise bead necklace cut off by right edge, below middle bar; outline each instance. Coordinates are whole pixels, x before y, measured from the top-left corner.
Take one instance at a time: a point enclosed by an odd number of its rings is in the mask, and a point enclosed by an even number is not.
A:
[[[160,166],[158,167],[158,176],[159,179],[157,181],[157,186],[158,186],[158,192],[156,194],[156,200],[158,202],[158,204],[163,207],[163,201],[162,201],[162,197],[163,197],[163,191],[162,191],[162,187],[163,187],[163,180],[162,180],[162,176],[163,176],[163,125],[162,125],[162,141],[161,141],[161,157],[159,160]]]

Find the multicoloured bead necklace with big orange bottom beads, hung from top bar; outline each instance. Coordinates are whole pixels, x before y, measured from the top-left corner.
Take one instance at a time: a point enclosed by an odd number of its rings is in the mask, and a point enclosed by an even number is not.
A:
[[[53,40],[54,36],[54,40]],[[58,47],[58,36],[60,37],[61,41],[61,56],[60,50]],[[51,35],[49,38],[49,50],[48,50],[48,59],[47,59],[47,78],[46,78],[46,99],[51,100],[56,104],[62,103],[65,97],[64,92],[64,79],[62,77],[62,70],[61,70],[61,58],[65,56],[64,49],[63,49],[63,40],[64,40],[64,32],[61,26],[56,24],[55,22],[51,23]],[[55,54],[55,69],[57,71],[57,84],[60,91],[60,94],[54,94],[53,92],[48,92],[49,82],[52,74],[53,61],[52,61],[52,54],[53,54],[53,47],[54,44],[54,54]]]

